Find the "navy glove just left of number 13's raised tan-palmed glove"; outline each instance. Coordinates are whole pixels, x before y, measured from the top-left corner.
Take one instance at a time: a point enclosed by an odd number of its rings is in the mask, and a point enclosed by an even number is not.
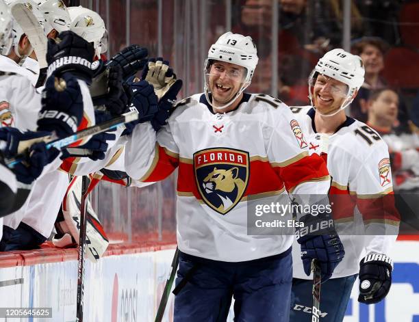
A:
[[[130,77],[125,83],[125,92],[129,99],[129,109],[136,109],[139,114],[138,120],[125,124],[123,135],[129,135],[136,124],[153,119],[158,106],[154,88],[147,81],[136,81],[134,77]]]

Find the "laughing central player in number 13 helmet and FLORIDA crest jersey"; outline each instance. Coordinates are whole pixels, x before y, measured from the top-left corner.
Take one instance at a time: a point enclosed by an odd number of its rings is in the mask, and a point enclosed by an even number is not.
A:
[[[132,178],[155,182],[179,167],[175,321],[225,321],[232,295],[236,321],[288,321],[293,236],[247,234],[247,200],[326,193],[329,175],[294,135],[286,105],[244,93],[257,60],[250,37],[225,33],[205,61],[205,92],[182,100],[157,135],[146,122],[128,137]],[[338,237],[302,237],[303,248],[308,239],[325,245],[331,273],[344,254]]]

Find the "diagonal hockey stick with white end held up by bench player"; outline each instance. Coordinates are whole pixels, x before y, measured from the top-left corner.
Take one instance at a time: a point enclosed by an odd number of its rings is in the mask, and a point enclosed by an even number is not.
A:
[[[132,121],[138,120],[138,112],[137,111],[129,111],[127,113],[123,113],[121,116],[116,118],[112,118],[112,120],[108,120],[102,122],[101,124],[96,124],[94,126],[90,126],[87,129],[78,131],[72,135],[68,135],[68,137],[63,137],[62,139],[55,139],[51,140],[51,136],[47,137],[39,137],[37,139],[31,139],[25,142],[25,145],[19,146],[18,148],[18,155],[12,159],[5,159],[5,164],[8,167],[13,168],[16,163],[25,161],[25,150],[29,148],[32,144],[36,142],[48,142],[47,148],[56,148],[61,150],[62,148],[66,148],[67,146],[73,144],[74,142],[79,141],[79,139],[84,139],[90,135],[96,135],[111,129],[116,129],[118,126],[123,126],[125,123],[129,123]]]

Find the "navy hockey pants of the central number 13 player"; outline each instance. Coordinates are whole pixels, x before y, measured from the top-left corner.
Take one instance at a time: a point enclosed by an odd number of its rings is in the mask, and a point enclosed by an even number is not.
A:
[[[236,322],[288,322],[291,283],[291,248],[238,263],[180,252],[175,322],[226,321],[232,296]]]

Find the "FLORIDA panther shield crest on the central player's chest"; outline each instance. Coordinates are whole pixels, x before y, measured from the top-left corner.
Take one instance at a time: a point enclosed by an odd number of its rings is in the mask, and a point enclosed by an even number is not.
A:
[[[194,153],[198,191],[207,206],[225,215],[242,198],[249,181],[249,152],[212,148]]]

